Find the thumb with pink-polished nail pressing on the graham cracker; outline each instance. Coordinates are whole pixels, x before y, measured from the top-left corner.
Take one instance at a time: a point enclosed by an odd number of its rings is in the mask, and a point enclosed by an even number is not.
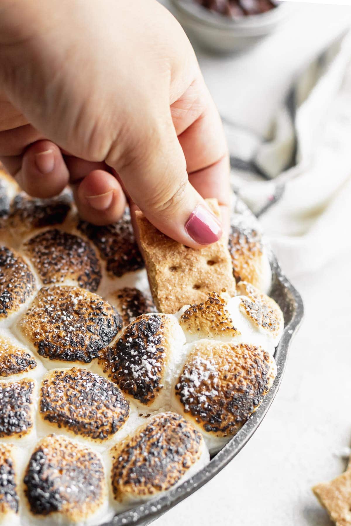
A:
[[[123,161],[114,161],[112,148],[107,164],[118,172],[147,219],[164,234],[192,248],[214,243],[222,237],[222,225],[189,183],[171,115],[163,124],[150,125],[146,118],[143,122],[147,126],[138,126],[137,134],[131,133],[137,139],[125,148]]]

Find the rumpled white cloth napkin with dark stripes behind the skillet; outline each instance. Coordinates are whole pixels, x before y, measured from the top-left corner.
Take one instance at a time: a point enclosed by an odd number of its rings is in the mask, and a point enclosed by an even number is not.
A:
[[[351,248],[350,61],[351,35],[341,26],[292,77],[266,133],[231,118],[230,99],[221,108],[232,187],[290,277]]]

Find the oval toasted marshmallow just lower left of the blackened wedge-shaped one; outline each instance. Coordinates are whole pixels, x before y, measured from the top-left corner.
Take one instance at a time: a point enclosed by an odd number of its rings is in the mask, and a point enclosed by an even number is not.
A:
[[[37,426],[42,436],[61,429],[77,439],[106,444],[128,415],[129,403],[118,387],[91,371],[54,369],[42,380]]]

